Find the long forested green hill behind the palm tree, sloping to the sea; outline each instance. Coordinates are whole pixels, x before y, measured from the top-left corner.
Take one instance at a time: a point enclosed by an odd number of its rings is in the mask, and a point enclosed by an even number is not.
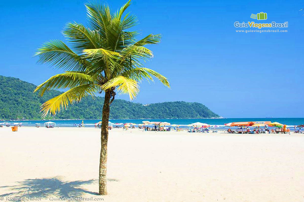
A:
[[[40,105],[60,94],[47,91],[43,97],[33,93],[34,84],[18,78],[0,76],[0,119],[41,119]],[[81,103],[69,106],[57,113],[56,119],[101,119],[104,98],[87,97]],[[219,117],[205,105],[194,102],[163,102],[144,106],[125,100],[114,100],[111,104],[110,119],[141,118],[212,118]]]

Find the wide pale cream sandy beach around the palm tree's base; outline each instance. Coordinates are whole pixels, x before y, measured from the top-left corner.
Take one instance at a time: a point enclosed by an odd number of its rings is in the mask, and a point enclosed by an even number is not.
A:
[[[100,129],[21,127],[12,132],[3,127],[0,138],[4,201],[13,196],[52,201],[58,195],[115,202],[304,200],[304,134],[113,129],[107,196],[96,195]]]

